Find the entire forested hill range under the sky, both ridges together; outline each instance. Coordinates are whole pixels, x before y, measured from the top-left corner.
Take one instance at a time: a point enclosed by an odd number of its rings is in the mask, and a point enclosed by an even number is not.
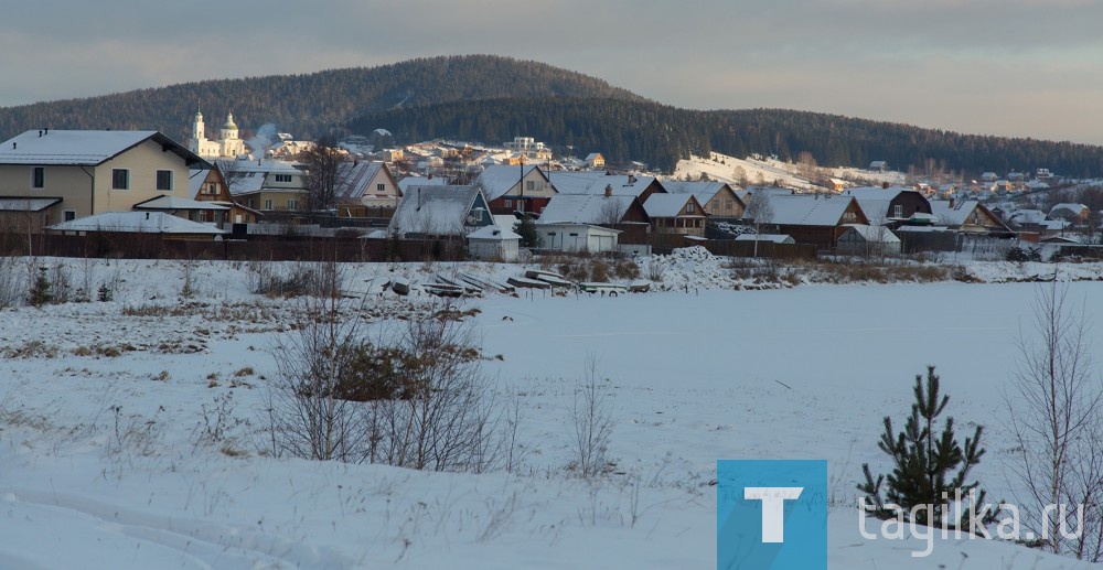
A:
[[[692,88],[688,87],[688,88]],[[184,141],[200,106],[207,136],[233,111],[248,139],[272,123],[299,138],[368,135],[396,143],[456,138],[501,144],[534,137],[558,153],[601,152],[668,171],[690,153],[785,160],[808,151],[821,165],[897,170],[1020,172],[1047,168],[1103,176],[1103,148],[960,135],[907,125],[780,109],[686,110],[650,101],[607,82],[538,62],[493,55],[441,56],[371,68],[205,80],[86,99],[0,108],[0,140],[26,129],[156,129]]]

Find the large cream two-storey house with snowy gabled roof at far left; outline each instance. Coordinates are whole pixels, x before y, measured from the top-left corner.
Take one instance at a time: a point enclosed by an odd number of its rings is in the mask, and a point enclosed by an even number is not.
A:
[[[29,130],[0,143],[0,201],[47,198],[33,215],[53,225],[189,198],[191,168],[211,164],[158,131]]]

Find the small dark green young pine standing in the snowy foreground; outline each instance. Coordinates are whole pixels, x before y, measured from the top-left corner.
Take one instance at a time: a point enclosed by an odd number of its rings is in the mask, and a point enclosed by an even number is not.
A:
[[[911,405],[911,416],[903,431],[893,433],[892,419],[885,417],[885,432],[877,447],[892,458],[892,472],[878,475],[874,480],[869,464],[863,464],[866,482],[858,491],[866,494],[867,505],[872,505],[874,514],[882,518],[904,515],[917,524],[947,528],[970,529],[970,517],[990,523],[997,513],[982,512],[985,493],[977,490],[975,502],[968,503],[970,491],[976,490],[978,482],[966,483],[970,470],[981,462],[983,427],[977,426],[972,438],[964,445],[954,435],[954,419],[947,417],[939,426],[950,402],[950,397],[940,392],[939,376],[934,366],[927,368],[927,380],[915,376],[915,396]],[[887,484],[882,490],[881,485]],[[961,508],[953,506],[955,498],[963,498]],[[912,510],[917,505],[927,508]],[[971,512],[972,510],[972,512]],[[956,516],[955,516],[956,515]]]

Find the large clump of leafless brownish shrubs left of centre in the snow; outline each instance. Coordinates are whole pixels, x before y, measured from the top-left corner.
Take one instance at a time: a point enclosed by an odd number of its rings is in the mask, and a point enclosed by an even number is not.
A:
[[[275,346],[266,447],[274,455],[432,471],[496,466],[505,435],[481,351],[456,311],[368,338],[340,299]]]

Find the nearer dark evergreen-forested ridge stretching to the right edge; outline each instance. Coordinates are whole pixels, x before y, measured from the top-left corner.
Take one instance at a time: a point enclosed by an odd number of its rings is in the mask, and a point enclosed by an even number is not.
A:
[[[690,153],[773,153],[791,160],[808,151],[827,166],[865,166],[884,160],[892,169],[922,170],[933,161],[972,176],[1036,168],[1075,178],[1103,175],[1103,147],[962,135],[782,109],[697,111],[623,99],[497,99],[404,107],[370,114],[350,127],[360,132],[385,128],[398,142],[446,138],[499,144],[524,135],[557,152],[570,146],[576,157],[601,152],[613,163],[642,161],[664,171]]]

